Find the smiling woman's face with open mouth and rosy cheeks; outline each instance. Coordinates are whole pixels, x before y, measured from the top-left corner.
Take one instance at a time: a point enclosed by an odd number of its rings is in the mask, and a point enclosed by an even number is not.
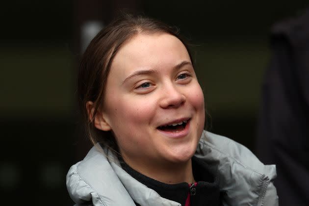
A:
[[[178,163],[195,153],[205,122],[204,96],[181,41],[139,34],[115,55],[102,117],[130,162]]]

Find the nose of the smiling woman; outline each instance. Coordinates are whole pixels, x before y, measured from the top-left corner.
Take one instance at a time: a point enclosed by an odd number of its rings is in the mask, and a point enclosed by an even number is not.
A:
[[[162,88],[162,98],[160,106],[162,108],[177,108],[186,101],[186,97],[181,93],[181,88],[175,85],[168,85]]]

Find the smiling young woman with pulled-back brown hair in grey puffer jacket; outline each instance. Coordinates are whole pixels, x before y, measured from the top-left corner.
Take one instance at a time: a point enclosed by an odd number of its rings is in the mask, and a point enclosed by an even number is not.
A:
[[[94,147],[67,187],[95,206],[278,205],[275,166],[206,132],[205,103],[177,30],[123,16],[90,43],[78,95]]]

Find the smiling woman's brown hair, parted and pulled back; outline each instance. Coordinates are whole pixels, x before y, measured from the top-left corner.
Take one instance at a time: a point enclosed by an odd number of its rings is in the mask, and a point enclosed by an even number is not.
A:
[[[113,58],[124,42],[137,34],[168,33],[176,36],[186,47],[191,62],[192,57],[187,44],[179,36],[177,27],[167,26],[159,21],[142,17],[122,14],[108,26],[103,28],[90,42],[84,52],[78,74],[78,102],[85,123],[85,130],[93,144],[101,142],[107,147],[118,151],[116,140],[111,132],[94,127],[94,120],[104,100],[105,84]],[[93,118],[87,111],[87,102],[94,103]]]

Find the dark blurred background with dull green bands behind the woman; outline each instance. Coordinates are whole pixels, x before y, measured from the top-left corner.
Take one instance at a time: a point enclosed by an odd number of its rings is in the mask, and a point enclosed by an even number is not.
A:
[[[208,130],[254,152],[269,32],[307,0],[11,0],[0,6],[0,194],[10,205],[73,205],[70,166],[90,147],[80,128],[77,62],[119,9],[180,28],[194,44]]]

